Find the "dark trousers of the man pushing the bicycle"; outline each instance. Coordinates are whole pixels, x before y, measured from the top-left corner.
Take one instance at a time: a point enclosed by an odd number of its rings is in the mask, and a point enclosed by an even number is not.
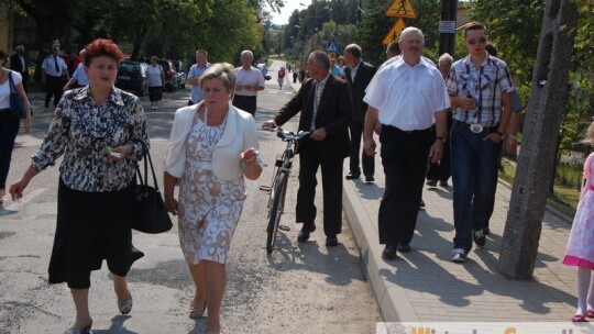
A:
[[[342,164],[344,158],[322,154],[319,143],[309,140],[299,154],[299,190],[297,190],[296,216],[298,222],[316,220],[316,174],[321,166],[323,193],[323,232],[339,234],[342,224]]]

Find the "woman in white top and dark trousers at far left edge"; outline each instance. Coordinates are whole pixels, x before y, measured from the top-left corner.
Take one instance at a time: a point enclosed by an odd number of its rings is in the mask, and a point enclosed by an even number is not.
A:
[[[31,107],[23,89],[23,78],[20,73],[4,68],[7,54],[0,49],[0,205],[3,204],[4,189],[7,188],[7,178],[10,169],[10,159],[14,148],[14,140],[19,133],[21,120],[11,115],[10,111],[10,81],[12,77],[14,89],[23,100],[25,110],[24,127],[25,132],[31,130]]]

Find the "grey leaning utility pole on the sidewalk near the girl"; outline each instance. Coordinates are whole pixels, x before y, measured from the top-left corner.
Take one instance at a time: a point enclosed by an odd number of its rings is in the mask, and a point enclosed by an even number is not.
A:
[[[547,0],[498,261],[508,278],[527,279],[535,270],[578,18],[575,1]]]

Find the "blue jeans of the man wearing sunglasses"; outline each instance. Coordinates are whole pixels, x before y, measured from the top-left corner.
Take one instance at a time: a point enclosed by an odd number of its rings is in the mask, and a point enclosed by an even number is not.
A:
[[[496,129],[495,129],[496,130]],[[487,225],[490,203],[495,196],[499,144],[485,141],[490,129],[473,133],[454,121],[450,131],[452,154],[454,248],[470,252],[472,230]]]

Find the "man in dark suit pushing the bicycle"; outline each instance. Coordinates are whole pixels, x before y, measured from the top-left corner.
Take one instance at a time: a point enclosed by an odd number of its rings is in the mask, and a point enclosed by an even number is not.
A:
[[[311,135],[299,146],[296,215],[304,226],[297,242],[307,242],[316,230],[316,172],[321,166],[326,245],[336,246],[342,223],[342,165],[349,156],[351,92],[346,81],[330,74],[330,58],[326,53],[312,52],[307,68],[311,79],[305,80],[297,94],[262,127],[283,125],[301,112],[299,130],[311,131]]]

